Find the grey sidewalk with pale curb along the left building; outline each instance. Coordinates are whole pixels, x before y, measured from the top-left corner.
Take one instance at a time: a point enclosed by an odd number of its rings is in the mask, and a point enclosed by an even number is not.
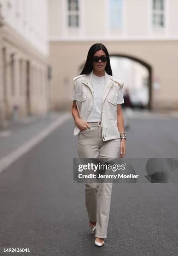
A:
[[[6,129],[1,129],[0,172],[70,118],[69,111],[51,112],[46,117],[32,116],[11,122]]]

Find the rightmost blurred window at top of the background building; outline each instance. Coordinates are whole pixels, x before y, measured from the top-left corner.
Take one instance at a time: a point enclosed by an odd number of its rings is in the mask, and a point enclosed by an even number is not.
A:
[[[153,0],[153,27],[163,28],[165,26],[165,1]]]

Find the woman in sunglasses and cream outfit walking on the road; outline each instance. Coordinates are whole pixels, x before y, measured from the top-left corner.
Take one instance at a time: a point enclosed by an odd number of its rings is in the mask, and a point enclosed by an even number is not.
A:
[[[85,66],[73,82],[72,115],[80,159],[123,158],[123,83],[112,76],[108,50],[103,44],[90,47]],[[96,246],[103,246],[107,237],[112,185],[85,183],[85,204]]]

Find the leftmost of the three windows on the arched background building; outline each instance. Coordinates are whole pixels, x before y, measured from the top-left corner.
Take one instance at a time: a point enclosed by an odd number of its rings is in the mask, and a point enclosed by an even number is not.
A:
[[[79,27],[79,0],[68,0],[68,27]]]

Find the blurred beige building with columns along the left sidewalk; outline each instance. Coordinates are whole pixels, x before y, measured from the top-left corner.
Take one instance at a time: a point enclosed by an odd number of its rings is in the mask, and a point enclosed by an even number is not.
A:
[[[47,0],[0,0],[0,126],[49,108]]]

